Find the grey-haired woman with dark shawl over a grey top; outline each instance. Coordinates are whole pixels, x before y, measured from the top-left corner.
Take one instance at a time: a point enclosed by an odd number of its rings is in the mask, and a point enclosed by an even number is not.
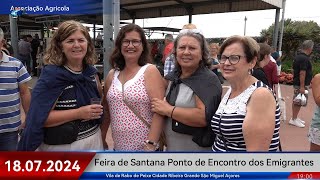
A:
[[[174,71],[166,99],[152,99],[152,111],[166,116],[168,151],[209,151],[214,140],[210,120],[221,100],[222,87],[209,69],[212,62],[199,29],[183,29],[174,41]]]

